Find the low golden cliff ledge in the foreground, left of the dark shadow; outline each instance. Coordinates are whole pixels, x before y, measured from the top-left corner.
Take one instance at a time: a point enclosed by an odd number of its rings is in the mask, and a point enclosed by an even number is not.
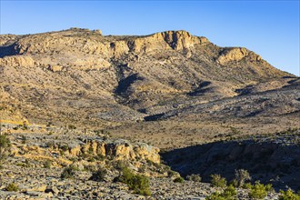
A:
[[[47,148],[50,148],[52,152],[64,152],[66,158],[81,155],[102,155],[115,160],[150,160],[156,164],[160,163],[159,148],[144,143],[132,144],[122,139],[81,138],[80,140],[72,140],[69,144],[54,142],[52,145],[13,145],[11,154],[43,158],[49,156]]]

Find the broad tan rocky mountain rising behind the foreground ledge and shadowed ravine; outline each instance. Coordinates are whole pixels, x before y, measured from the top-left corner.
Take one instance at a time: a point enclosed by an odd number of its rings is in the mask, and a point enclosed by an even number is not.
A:
[[[6,121],[101,127],[145,135],[160,147],[211,140],[231,126],[245,134],[298,126],[290,120],[300,108],[295,75],[244,47],[220,47],[186,31],[122,36],[71,28],[1,35],[0,44]],[[158,144],[153,134],[166,141]],[[184,142],[167,145],[173,134]]]

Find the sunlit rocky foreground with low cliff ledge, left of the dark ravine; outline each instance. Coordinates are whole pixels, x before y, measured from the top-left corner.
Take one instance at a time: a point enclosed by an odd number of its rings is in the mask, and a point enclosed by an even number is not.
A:
[[[72,128],[72,127],[71,127]],[[36,132],[39,129],[39,132]],[[223,189],[199,181],[175,183],[179,174],[161,163],[159,149],[110,138],[105,131],[91,132],[48,125],[4,125],[10,145],[1,144],[1,199],[205,199]],[[178,155],[180,157],[180,155]],[[149,178],[151,195],[137,195],[115,181],[120,165]],[[67,167],[72,177],[63,177]],[[95,171],[107,173],[91,179]],[[17,186],[10,191],[8,185]],[[237,188],[238,199],[249,199],[249,190]],[[277,199],[268,193],[265,199]]]

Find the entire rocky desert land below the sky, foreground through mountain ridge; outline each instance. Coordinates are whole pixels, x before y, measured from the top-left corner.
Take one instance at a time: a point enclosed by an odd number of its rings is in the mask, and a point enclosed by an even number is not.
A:
[[[186,31],[0,35],[0,197],[278,199],[300,189],[299,91]]]

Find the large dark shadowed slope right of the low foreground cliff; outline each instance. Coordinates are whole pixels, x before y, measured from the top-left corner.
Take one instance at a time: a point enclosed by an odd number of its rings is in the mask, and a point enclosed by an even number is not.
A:
[[[292,138],[295,139],[295,138]],[[299,139],[299,136],[298,136]],[[204,182],[220,174],[227,181],[235,178],[235,169],[246,169],[252,182],[271,183],[275,189],[300,189],[300,146],[278,141],[255,140],[215,142],[189,146],[162,154],[171,168],[181,175],[200,174]]]

